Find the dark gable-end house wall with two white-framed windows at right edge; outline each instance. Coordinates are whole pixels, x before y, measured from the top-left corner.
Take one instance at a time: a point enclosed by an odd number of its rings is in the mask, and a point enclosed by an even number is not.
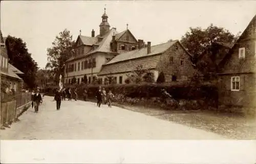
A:
[[[220,62],[219,105],[255,107],[256,15]]]

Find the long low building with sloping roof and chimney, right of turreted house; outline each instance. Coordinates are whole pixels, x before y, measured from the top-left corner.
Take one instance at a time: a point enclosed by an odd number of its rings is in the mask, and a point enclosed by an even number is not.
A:
[[[139,49],[122,53],[114,57],[108,63],[102,65],[98,77],[105,82],[108,77],[114,78],[118,84],[124,84],[125,80],[136,71],[139,65],[154,75],[154,81],[163,72],[165,81],[184,81],[193,77],[194,66],[190,60],[191,55],[185,50],[178,40],[151,46],[143,45]]]

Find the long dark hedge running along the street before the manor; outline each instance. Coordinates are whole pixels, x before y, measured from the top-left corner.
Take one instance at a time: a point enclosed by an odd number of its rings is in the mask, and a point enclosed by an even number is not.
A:
[[[66,86],[66,88],[77,87],[77,93],[80,97],[84,91],[87,89],[88,98],[94,98],[95,92],[98,87],[104,87],[108,92],[111,90],[114,95],[123,95],[129,98],[146,98],[150,99],[153,97],[162,97],[161,89],[165,89],[172,97],[176,100],[218,100],[218,90],[217,87],[212,84],[197,84],[189,82],[173,82],[172,84],[115,84],[115,85],[91,85],[91,84],[80,84]],[[49,96],[53,96],[55,87],[45,88],[43,91]]]

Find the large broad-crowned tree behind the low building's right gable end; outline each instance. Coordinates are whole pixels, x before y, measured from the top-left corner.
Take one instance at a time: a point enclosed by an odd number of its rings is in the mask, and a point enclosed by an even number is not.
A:
[[[187,51],[193,55],[191,61],[197,66],[200,72],[206,74],[215,74],[216,55],[225,55],[222,51],[224,47],[216,46],[217,42],[233,44],[239,37],[239,34],[234,36],[228,30],[214,25],[210,25],[207,29],[189,28],[190,31],[182,36],[181,43]],[[223,54],[220,54],[220,53]],[[202,56],[205,56],[202,58]],[[199,60],[200,59],[200,60]]]

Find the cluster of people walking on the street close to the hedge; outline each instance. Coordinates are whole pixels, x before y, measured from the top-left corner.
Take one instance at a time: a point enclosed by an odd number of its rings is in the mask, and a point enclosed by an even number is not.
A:
[[[108,104],[109,107],[111,107],[112,99],[114,98],[114,94],[111,90],[109,90],[108,94],[105,91],[105,88],[99,87],[99,89],[96,91],[96,99],[97,99],[97,106],[100,107],[102,104]]]

